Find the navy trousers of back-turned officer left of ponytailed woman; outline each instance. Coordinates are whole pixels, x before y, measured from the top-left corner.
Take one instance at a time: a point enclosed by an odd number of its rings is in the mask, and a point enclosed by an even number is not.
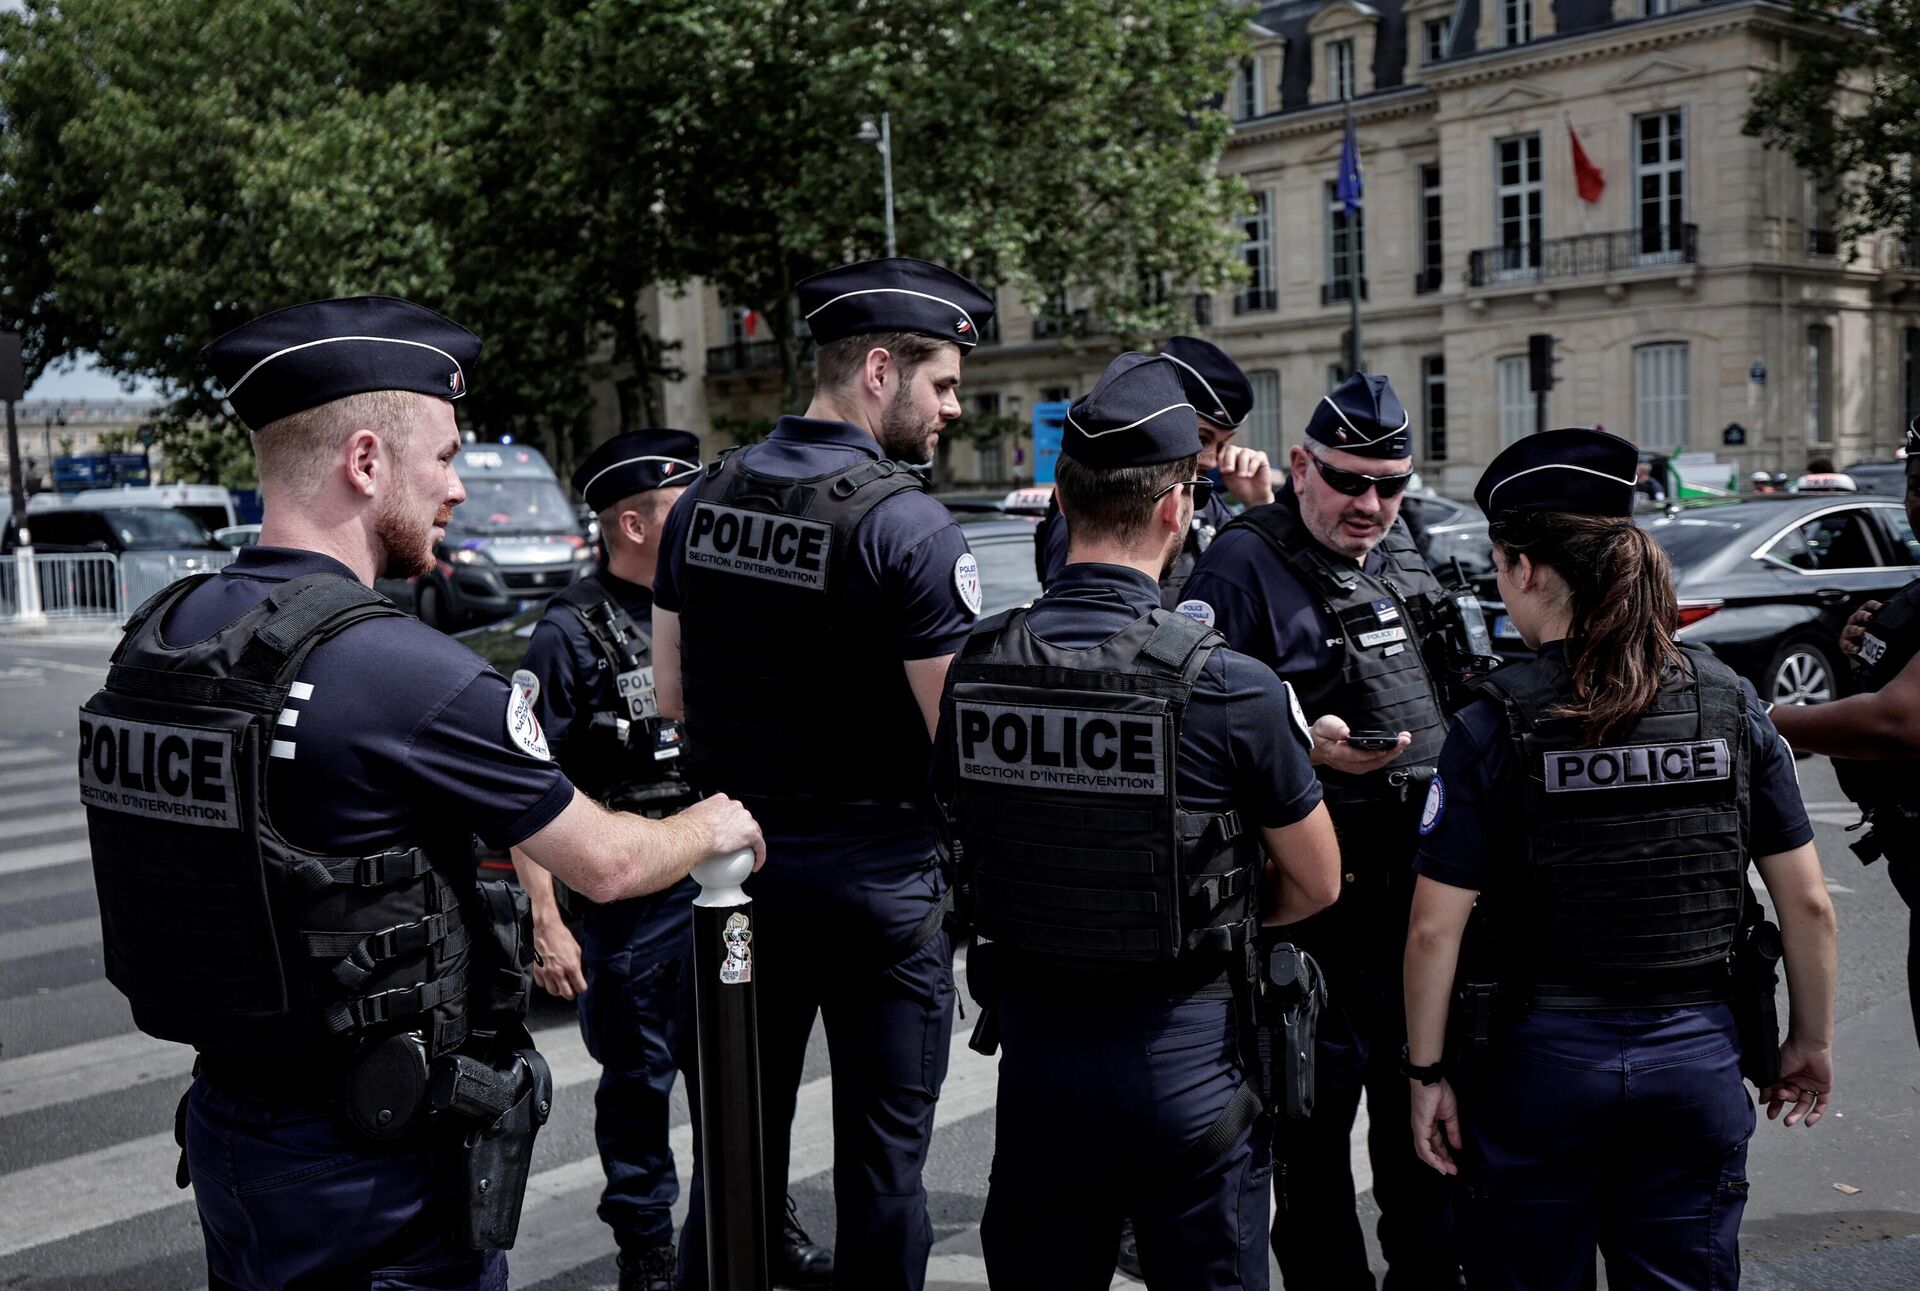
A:
[[[995,1291],[1114,1281],[1121,1218],[1150,1287],[1267,1287],[1265,1122],[1194,1172],[1240,1085],[1231,1001],[1127,1007],[1008,991],[993,1181],[979,1235]]]

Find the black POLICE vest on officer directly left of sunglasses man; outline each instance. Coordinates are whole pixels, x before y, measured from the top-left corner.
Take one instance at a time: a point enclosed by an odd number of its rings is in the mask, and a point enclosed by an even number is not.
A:
[[[1179,803],[1177,749],[1212,628],[1156,609],[1091,649],[1018,609],[952,665],[954,834],[973,928],[1069,972],[1233,966],[1258,836]]]

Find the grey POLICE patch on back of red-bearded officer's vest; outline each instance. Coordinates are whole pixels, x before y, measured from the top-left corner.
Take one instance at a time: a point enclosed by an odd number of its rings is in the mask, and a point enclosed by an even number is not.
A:
[[[81,711],[81,803],[238,830],[232,732]]]

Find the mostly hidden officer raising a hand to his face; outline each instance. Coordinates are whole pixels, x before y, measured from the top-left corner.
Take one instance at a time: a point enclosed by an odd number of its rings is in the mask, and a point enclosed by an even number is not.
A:
[[[1175,336],[1160,353],[1171,359],[1179,373],[1187,402],[1194,405],[1200,421],[1200,469],[1212,473],[1227,492],[1240,499],[1244,507],[1260,507],[1273,501],[1273,475],[1267,469],[1267,455],[1258,448],[1242,448],[1233,436],[1254,411],[1254,386],[1246,373],[1225,355],[1225,352],[1200,340],[1198,336]],[[1208,498],[1204,507],[1194,507],[1192,528],[1181,546],[1173,569],[1160,580],[1160,596],[1165,605],[1177,605],[1187,576],[1192,574],[1194,561],[1213,542],[1233,511],[1219,496]],[[1033,567],[1041,586],[1048,586],[1060,576],[1068,563],[1068,523],[1060,515],[1060,498],[1046,501],[1046,515],[1033,532]]]

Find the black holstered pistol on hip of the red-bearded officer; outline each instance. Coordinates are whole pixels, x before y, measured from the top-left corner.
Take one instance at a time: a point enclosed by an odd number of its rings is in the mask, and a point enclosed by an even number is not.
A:
[[[465,1055],[434,1062],[432,1105],[465,1120],[453,1235],[468,1251],[507,1251],[520,1231],[520,1203],[534,1166],[534,1135],[553,1110],[553,1074],[538,1049],[516,1049],[505,1066]]]

